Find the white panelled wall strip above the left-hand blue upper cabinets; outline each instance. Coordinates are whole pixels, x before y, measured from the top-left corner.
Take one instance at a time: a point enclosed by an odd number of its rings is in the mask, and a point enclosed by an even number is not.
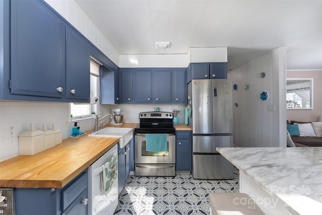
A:
[[[72,26],[89,39],[115,64],[119,64],[119,54],[103,37],[101,32],[72,0],[45,0],[55,11],[65,18]]]

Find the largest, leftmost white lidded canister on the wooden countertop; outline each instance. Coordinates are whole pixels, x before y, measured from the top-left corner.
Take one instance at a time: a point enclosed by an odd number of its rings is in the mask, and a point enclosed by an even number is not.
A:
[[[35,130],[30,123],[30,130],[24,131],[19,136],[19,155],[35,155],[45,150],[45,132]]]

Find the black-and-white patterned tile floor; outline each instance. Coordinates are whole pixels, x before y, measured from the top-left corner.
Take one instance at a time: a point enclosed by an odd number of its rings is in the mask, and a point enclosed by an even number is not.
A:
[[[209,214],[209,193],[239,192],[238,170],[234,171],[232,180],[195,180],[191,174],[130,175],[114,214]]]

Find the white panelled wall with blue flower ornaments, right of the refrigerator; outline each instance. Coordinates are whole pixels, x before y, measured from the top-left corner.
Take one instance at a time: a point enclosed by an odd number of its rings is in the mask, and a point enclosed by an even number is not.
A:
[[[234,146],[286,147],[285,52],[284,48],[275,49],[228,73],[232,85],[238,86],[232,90]],[[262,72],[264,79],[260,78]],[[260,99],[262,92],[269,95],[266,101]],[[268,111],[274,105],[275,111]]]

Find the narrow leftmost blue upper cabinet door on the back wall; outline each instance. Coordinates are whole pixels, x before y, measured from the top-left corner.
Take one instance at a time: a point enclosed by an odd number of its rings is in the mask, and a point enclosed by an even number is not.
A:
[[[132,103],[132,69],[120,69],[121,103]]]

